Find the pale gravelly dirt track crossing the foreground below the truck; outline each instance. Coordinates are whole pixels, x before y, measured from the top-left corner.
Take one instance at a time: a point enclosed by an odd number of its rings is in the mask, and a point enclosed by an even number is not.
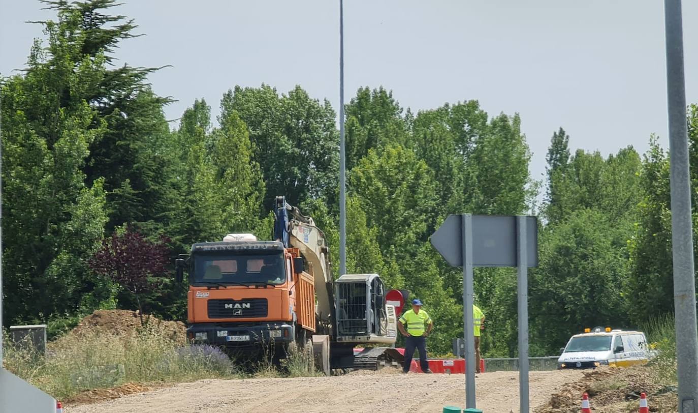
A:
[[[530,373],[531,407],[545,403],[581,372]],[[518,412],[517,372],[491,372],[476,379],[477,407],[485,412]],[[202,380],[126,396],[66,413],[151,412],[441,412],[463,405],[463,375],[399,375],[355,372],[339,377]]]

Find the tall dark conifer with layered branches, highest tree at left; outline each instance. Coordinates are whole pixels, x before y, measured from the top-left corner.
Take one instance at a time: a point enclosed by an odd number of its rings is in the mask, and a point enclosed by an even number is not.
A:
[[[31,113],[50,133],[54,109],[86,101],[94,110],[94,121],[87,128],[102,130],[89,143],[83,171],[89,185],[105,180],[109,228],[124,222],[161,223],[171,193],[162,173],[170,160],[165,150],[170,132],[163,115],[163,105],[170,99],[154,94],[147,83],[157,68],[113,66],[112,54],[119,43],[138,36],[133,33],[134,21],[108,13],[118,5],[115,0],[43,3],[58,16],[55,22],[40,22],[50,40],[45,50],[48,59],[40,70],[52,87]],[[70,75],[80,76],[81,82],[68,82]]]

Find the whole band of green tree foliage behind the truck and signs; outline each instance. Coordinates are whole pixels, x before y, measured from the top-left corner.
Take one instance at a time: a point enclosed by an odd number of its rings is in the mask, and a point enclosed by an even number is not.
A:
[[[45,3],[57,15],[40,22],[45,42],[0,85],[7,323],[139,300],[183,319],[186,287],[160,277],[149,289],[151,276],[172,273],[171,257],[193,242],[230,232],[269,239],[279,195],[325,232],[339,276],[339,133],[327,100],[300,86],[285,94],[235,86],[217,119],[201,99],[169,124],[170,98],[148,82],[158,68],[117,66],[130,44],[122,41],[140,34],[113,13],[114,0]],[[462,277],[429,236],[452,213],[535,212],[540,182],[528,172],[521,118],[489,115],[474,99],[415,114],[383,87],[359,88],[341,110],[348,270],[379,273],[389,288],[421,298],[436,322],[430,349],[448,352],[463,333]],[[695,187],[697,106],[688,126]],[[531,354],[555,354],[584,327],[630,327],[671,312],[669,159],[658,138],[644,156],[632,147],[605,156],[573,150],[560,128],[546,160]],[[487,356],[516,353],[515,292],[512,270],[475,271]]]

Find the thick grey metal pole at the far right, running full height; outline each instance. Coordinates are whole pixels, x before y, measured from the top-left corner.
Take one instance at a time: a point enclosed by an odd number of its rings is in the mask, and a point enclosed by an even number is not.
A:
[[[679,412],[695,412],[698,398],[698,331],[688,164],[688,131],[683,71],[681,0],[664,0],[667,41],[667,103],[671,163],[671,252],[678,358]]]

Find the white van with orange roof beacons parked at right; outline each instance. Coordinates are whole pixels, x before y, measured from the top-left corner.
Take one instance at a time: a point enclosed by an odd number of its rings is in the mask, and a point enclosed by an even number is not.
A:
[[[600,365],[627,367],[646,363],[650,357],[645,333],[641,331],[589,328],[573,335],[558,358],[558,369],[597,368]]]

